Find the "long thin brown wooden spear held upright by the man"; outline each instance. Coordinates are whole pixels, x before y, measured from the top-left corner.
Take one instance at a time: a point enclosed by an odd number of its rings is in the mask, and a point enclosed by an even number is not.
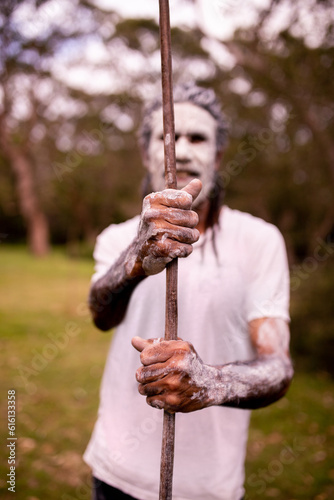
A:
[[[175,161],[172,51],[168,0],[159,0],[159,11],[162,110],[165,149],[165,185],[166,188],[175,189],[177,181]],[[177,339],[177,268],[177,259],[172,260],[166,268],[165,340]],[[172,499],[174,440],[175,415],[164,411],[160,463],[160,500]]]

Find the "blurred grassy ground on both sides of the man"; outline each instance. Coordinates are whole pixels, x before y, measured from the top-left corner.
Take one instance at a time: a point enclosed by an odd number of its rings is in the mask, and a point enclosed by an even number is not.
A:
[[[90,499],[82,453],[110,342],[86,307],[92,269],[92,261],[60,250],[35,260],[0,246],[0,431],[6,443],[7,391],[15,388],[19,500]],[[297,373],[284,399],[253,412],[247,499],[334,498],[333,385],[324,374]],[[5,444],[0,455],[1,498],[13,498]]]

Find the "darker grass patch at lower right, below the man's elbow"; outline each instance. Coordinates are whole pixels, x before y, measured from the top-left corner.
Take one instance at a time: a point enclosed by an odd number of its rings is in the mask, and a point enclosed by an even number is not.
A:
[[[252,414],[247,499],[334,498],[333,381],[297,373],[285,398]]]

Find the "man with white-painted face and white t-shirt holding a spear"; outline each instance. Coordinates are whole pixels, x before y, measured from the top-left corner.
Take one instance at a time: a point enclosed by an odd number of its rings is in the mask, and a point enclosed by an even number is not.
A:
[[[240,500],[248,410],[282,397],[293,374],[282,236],[221,206],[226,127],[213,91],[184,85],[174,100],[178,190],[164,190],[158,99],[140,137],[154,192],[140,216],[107,228],[94,252],[93,318],[102,330],[117,326],[85,453],[97,499],[158,498],[157,409],[165,409],[178,412],[173,499]],[[164,269],[175,257],[180,340],[166,342]]]

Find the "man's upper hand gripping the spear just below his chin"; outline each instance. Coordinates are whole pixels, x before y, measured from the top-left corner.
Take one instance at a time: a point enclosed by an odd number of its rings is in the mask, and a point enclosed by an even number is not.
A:
[[[191,206],[201,189],[201,181],[194,179],[181,190],[165,189],[144,198],[136,255],[128,262],[130,275],[160,273],[171,260],[191,254],[200,236]]]

